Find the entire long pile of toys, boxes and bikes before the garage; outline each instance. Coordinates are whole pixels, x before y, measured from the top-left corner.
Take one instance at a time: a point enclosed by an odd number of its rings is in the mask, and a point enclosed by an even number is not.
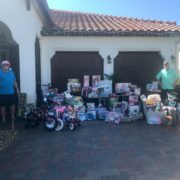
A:
[[[112,81],[100,80],[93,76],[92,86],[89,86],[89,76],[84,77],[82,96],[73,96],[70,91],[79,91],[81,83],[75,79],[68,81],[68,91],[58,93],[58,89],[45,85],[41,107],[32,104],[26,107],[24,118],[26,129],[36,127],[43,122],[46,130],[61,131],[64,127],[74,130],[81,121],[104,120],[108,123],[120,124],[143,119],[144,111],[148,124],[175,123],[177,109],[180,103],[176,96],[169,94],[168,105],[163,105],[160,95],[141,95],[141,88],[132,83],[116,83],[115,93],[112,93]],[[157,90],[157,83],[148,85],[148,91]],[[83,98],[93,98],[95,102],[85,102]],[[108,102],[101,101],[102,99]],[[141,102],[141,101],[143,102]],[[23,111],[22,111],[23,112]]]

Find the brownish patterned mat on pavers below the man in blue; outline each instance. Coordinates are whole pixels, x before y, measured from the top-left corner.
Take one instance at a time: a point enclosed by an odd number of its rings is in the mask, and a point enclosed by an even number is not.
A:
[[[16,130],[1,130],[0,131],[0,151],[7,148],[16,138],[18,131]]]

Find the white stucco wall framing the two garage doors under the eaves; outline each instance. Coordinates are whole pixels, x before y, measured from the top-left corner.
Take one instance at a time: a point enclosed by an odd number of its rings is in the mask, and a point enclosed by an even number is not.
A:
[[[42,37],[42,83],[51,81],[50,59],[55,51],[98,51],[104,59],[104,73],[111,74],[113,63],[107,63],[107,56],[114,59],[119,51],[159,51],[171,67],[177,68],[171,61],[176,42],[176,38],[159,37]]]

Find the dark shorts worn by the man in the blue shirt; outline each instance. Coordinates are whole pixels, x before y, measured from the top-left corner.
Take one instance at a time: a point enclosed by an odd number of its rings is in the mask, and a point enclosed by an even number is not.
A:
[[[14,94],[0,94],[0,106],[11,106],[16,104],[16,96]]]

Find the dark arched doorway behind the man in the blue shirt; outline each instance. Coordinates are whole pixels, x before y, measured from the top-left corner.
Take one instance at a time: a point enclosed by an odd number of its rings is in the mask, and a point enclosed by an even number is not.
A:
[[[19,45],[12,37],[8,26],[0,21],[0,61],[9,60],[20,86]]]

